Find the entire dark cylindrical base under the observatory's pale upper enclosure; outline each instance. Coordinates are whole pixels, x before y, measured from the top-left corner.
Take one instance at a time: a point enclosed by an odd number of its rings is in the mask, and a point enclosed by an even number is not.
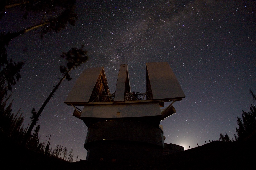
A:
[[[86,160],[136,161],[162,155],[164,136],[159,126],[146,122],[108,120],[88,129],[84,147]]]

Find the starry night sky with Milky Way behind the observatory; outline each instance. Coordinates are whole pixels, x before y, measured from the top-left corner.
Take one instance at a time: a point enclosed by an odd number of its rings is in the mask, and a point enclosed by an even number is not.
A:
[[[59,56],[84,44],[88,61],[71,72],[42,112],[40,140],[71,148],[85,159],[87,127],[64,104],[68,92],[85,68],[104,66],[113,93],[120,64],[128,64],[131,91],[146,91],[146,62],[168,62],[186,98],[173,104],[177,113],[161,121],[165,143],[197,147],[234,137],[237,116],[248,111],[256,92],[256,1],[82,1],[78,19],[58,33],[40,39],[38,31],[11,41],[8,56],[25,61],[21,79],[13,87],[12,111],[21,107],[24,126],[31,109],[39,110],[61,78]],[[19,31],[36,19],[22,21],[19,10],[7,11],[0,32]],[[29,22],[31,21],[32,22]],[[167,106],[165,104],[165,106]]]

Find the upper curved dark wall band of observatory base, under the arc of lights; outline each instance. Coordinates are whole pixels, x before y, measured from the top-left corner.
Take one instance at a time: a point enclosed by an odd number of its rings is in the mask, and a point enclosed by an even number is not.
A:
[[[135,120],[108,120],[95,123],[87,132],[84,147],[101,140],[144,142],[164,148],[162,130],[145,122]]]

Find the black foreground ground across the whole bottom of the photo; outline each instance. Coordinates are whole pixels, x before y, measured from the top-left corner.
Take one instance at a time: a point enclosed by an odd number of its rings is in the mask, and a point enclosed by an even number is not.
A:
[[[136,163],[88,162],[69,163],[36,154],[1,137],[0,169],[256,169],[256,142],[213,141],[197,148]]]

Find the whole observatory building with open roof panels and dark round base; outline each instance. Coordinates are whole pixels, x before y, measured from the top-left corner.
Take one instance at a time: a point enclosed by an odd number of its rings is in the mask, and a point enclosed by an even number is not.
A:
[[[146,63],[146,92],[131,92],[127,64],[120,66],[116,91],[110,93],[103,67],[85,69],[65,103],[84,121],[86,160],[136,161],[184,151],[164,143],[160,124],[176,113],[172,104],[185,98],[167,62]],[[162,112],[165,102],[171,102]],[[76,106],[84,106],[80,110]]]

